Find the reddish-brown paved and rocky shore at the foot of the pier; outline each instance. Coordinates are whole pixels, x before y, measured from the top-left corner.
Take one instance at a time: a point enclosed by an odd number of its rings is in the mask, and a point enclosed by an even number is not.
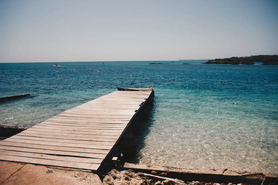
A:
[[[132,169],[112,169],[106,175],[99,177],[87,171],[75,171],[46,167],[34,164],[21,164],[0,161],[0,184],[50,184],[50,185],[247,185],[261,183],[231,183],[188,179],[173,179],[167,177],[167,172],[152,171],[150,174],[134,172]],[[155,174],[155,175],[154,175]],[[163,177],[162,177],[163,176]],[[102,179],[102,180],[101,180]],[[278,178],[276,178],[277,180]],[[273,181],[274,182],[274,181]],[[275,184],[266,182],[264,184]]]

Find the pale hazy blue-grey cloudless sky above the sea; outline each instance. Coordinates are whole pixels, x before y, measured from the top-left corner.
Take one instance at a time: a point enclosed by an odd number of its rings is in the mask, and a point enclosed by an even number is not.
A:
[[[277,0],[0,0],[0,62],[278,54]]]

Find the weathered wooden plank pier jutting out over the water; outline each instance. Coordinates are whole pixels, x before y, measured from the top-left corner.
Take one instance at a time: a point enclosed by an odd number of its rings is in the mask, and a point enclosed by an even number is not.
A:
[[[153,95],[152,88],[119,88],[74,107],[0,141],[0,160],[97,173]]]

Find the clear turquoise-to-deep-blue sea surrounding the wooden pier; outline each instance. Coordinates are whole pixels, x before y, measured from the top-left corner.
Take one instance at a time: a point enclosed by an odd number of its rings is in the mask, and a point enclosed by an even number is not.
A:
[[[116,87],[152,86],[136,162],[278,173],[278,66],[202,62],[1,63],[0,97],[31,97],[0,103],[0,124],[31,127]]]

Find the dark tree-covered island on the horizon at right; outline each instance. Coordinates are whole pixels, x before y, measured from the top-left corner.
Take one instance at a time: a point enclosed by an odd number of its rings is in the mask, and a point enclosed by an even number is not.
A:
[[[253,65],[254,62],[262,62],[262,65],[278,65],[278,55],[256,55],[244,57],[231,57],[224,59],[209,60],[203,64],[244,64]]]

